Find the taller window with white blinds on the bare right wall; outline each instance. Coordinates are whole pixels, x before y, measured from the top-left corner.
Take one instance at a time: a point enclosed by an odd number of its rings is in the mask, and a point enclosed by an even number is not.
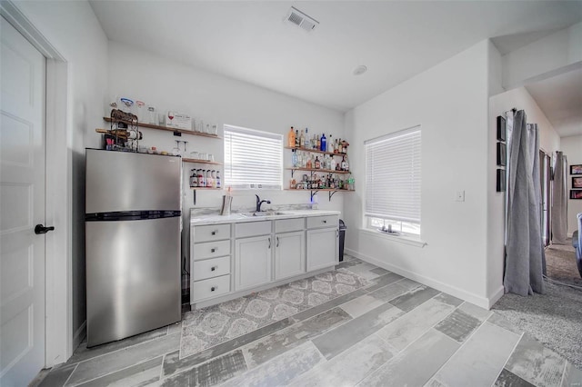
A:
[[[366,226],[420,234],[420,126],[365,143]]]

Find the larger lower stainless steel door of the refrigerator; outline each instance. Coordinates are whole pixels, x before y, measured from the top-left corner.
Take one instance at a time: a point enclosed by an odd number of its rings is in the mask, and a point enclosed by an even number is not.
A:
[[[85,225],[87,346],[180,321],[180,217]]]

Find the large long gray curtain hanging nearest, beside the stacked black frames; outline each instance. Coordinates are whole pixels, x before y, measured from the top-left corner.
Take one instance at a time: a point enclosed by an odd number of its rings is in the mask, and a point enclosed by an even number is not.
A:
[[[544,293],[544,249],[540,227],[539,137],[526,114],[513,117],[507,186],[506,293]]]

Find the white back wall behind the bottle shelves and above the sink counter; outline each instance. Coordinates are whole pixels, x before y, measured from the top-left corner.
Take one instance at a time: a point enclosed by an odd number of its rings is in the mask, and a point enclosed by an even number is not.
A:
[[[294,97],[278,94],[264,88],[239,82],[221,75],[211,74],[196,68],[181,65],[176,61],[150,54],[146,51],[109,43],[109,95],[128,96],[153,104],[158,110],[176,110],[190,114],[205,123],[218,124],[218,134],[222,136],[222,125],[232,124],[256,130],[286,134],[290,126],[309,128],[310,133],[325,133],[328,137],[344,138],[344,117],[335,110],[316,104],[306,103]],[[233,60],[236,60],[235,58]],[[104,109],[105,112],[105,109]],[[171,133],[143,129],[144,140],[140,144],[156,146],[159,150],[171,151],[176,146],[175,139],[189,143],[188,152],[204,151],[215,154],[218,161],[223,159],[223,142],[200,136],[174,137]],[[96,136],[96,134],[95,134]],[[285,150],[284,165],[290,166],[291,152]],[[187,224],[189,209],[194,207],[193,193],[187,189],[188,168],[204,168],[203,164],[184,164],[186,196],[184,197],[184,220]],[[222,170],[222,167],[220,167]],[[224,176],[224,174],[222,174]],[[285,171],[284,187],[288,187],[291,174]],[[307,192],[289,191],[236,191],[233,209],[253,208],[255,193],[269,199],[271,205],[309,203]],[[196,192],[196,207],[216,207],[222,203],[220,191]],[[336,193],[331,202],[326,193],[318,194],[320,209],[341,211],[343,195]],[[268,206],[264,207],[267,208]],[[189,230],[185,230],[183,241],[188,240]],[[187,244],[183,243],[183,256],[188,256]]]

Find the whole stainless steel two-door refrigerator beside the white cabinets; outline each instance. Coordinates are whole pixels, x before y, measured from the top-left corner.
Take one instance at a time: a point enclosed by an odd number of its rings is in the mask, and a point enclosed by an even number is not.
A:
[[[179,157],[86,149],[87,346],[181,319]]]

